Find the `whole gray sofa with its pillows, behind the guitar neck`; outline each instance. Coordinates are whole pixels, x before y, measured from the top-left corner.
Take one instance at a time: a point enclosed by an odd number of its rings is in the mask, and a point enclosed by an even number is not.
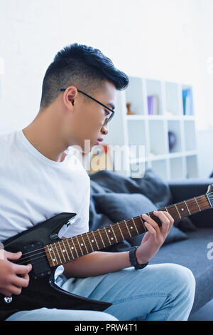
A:
[[[89,230],[203,195],[208,185],[213,184],[213,178],[165,182],[151,169],[146,170],[143,178],[121,177],[107,170],[89,177]],[[140,244],[142,238],[143,234],[104,250],[129,250],[132,245]],[[211,261],[207,258],[209,242],[213,242],[212,208],[177,220],[165,243],[150,262],[176,263],[192,270],[196,279],[196,293],[191,314],[213,298],[213,259]]]

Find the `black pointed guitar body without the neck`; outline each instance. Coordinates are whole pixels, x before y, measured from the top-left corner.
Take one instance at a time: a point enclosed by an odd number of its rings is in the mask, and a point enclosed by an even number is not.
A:
[[[13,294],[10,303],[7,303],[5,297],[0,294],[1,320],[6,319],[16,311],[42,307],[104,311],[111,306],[111,303],[81,297],[58,287],[54,281],[55,267],[50,268],[45,252],[42,252],[46,244],[60,240],[58,238],[60,228],[62,225],[68,225],[67,222],[75,215],[75,213],[60,213],[4,241],[6,251],[21,251],[22,254],[27,254],[28,258],[24,264],[31,263],[33,269],[29,274],[28,287],[23,288],[20,295]],[[38,257],[31,258],[31,254],[33,254],[33,251],[35,254],[36,250],[39,250],[38,252],[41,254],[40,256],[37,252],[39,259]]]

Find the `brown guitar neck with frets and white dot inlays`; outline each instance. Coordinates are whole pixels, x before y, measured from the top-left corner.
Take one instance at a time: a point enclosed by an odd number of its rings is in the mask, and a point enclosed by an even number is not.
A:
[[[175,205],[160,208],[158,211],[167,211],[173,219],[179,220],[182,217],[201,212],[211,207],[207,195],[193,197],[190,200],[178,202]],[[158,225],[161,225],[160,220],[153,212],[146,213]],[[123,220],[91,232],[79,234],[69,239],[62,239],[59,242],[48,244],[44,247],[50,267],[55,267],[60,264],[65,264],[77,259],[85,254],[89,254],[112,244],[129,239],[138,234],[146,232],[146,227],[141,215],[132,217],[128,220]]]

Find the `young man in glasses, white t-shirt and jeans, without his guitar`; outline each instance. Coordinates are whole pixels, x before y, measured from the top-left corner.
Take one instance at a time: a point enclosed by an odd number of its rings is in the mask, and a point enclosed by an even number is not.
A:
[[[88,231],[89,176],[72,147],[85,151],[87,140],[89,152],[102,140],[114,114],[116,90],[128,83],[97,49],[74,43],[58,52],[45,73],[38,115],[23,130],[0,136],[1,242],[60,212],[77,213],[74,222],[60,230],[61,238]],[[131,257],[130,252],[92,252],[58,269],[56,282],[64,289],[111,302],[104,312],[42,308],[18,311],[7,319],[187,320],[195,295],[192,272],[178,264],[142,269],[174,221],[168,212],[155,216],[162,226],[143,215],[148,231]],[[31,271],[31,264],[11,262],[20,257],[4,252],[0,260],[0,293],[13,299],[28,286]],[[142,264],[141,269],[133,262]]]

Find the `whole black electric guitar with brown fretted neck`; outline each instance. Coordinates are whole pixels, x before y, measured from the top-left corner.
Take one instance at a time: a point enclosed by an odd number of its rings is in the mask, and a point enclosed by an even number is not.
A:
[[[209,185],[205,195],[160,208],[158,211],[168,211],[174,220],[178,220],[210,207],[213,207],[213,184]],[[146,214],[161,225],[153,212]],[[0,319],[6,319],[16,311],[41,307],[104,311],[111,306],[109,302],[81,297],[58,287],[54,281],[55,268],[146,232],[143,219],[138,215],[101,229],[59,239],[60,228],[66,223],[68,225],[68,221],[75,215],[62,212],[4,241],[4,249],[7,251],[22,252],[16,264],[31,263],[33,269],[29,274],[28,287],[23,288],[20,295],[4,297],[0,294]]]

